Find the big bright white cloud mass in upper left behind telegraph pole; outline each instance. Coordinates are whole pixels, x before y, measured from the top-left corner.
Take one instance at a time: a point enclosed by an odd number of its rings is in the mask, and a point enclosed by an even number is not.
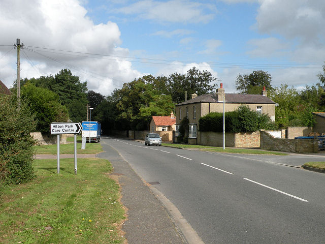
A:
[[[121,58],[114,60],[101,55],[89,58],[85,57],[88,54],[76,53],[62,55],[58,54],[62,53],[60,51],[31,47],[128,56],[128,49],[119,47],[121,40],[117,24],[110,21],[94,24],[86,13],[77,0],[1,1],[1,44],[13,44],[16,38],[20,38],[20,42],[25,45],[23,51],[32,62],[27,62],[24,53],[21,54],[21,77],[56,74],[60,69],[68,68],[81,81],[87,81],[89,89],[109,95],[113,88],[141,76],[140,72],[132,68],[131,62]],[[1,46],[0,57],[10,48]],[[0,60],[0,79],[7,86],[12,86],[16,79],[16,54],[9,54]]]

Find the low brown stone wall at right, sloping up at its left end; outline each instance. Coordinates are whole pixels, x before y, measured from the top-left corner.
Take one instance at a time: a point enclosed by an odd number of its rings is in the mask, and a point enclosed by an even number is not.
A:
[[[318,140],[274,138],[266,131],[261,130],[261,149],[301,154],[318,153]]]

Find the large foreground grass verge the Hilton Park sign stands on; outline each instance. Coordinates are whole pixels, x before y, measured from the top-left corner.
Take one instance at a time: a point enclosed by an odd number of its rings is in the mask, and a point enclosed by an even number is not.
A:
[[[35,160],[37,178],[0,189],[0,243],[123,243],[124,209],[104,159]]]

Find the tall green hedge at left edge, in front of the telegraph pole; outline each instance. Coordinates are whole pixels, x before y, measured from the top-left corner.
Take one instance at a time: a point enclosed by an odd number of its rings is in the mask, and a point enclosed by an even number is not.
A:
[[[35,116],[24,100],[18,110],[15,96],[0,96],[0,104],[0,184],[20,184],[35,177]]]

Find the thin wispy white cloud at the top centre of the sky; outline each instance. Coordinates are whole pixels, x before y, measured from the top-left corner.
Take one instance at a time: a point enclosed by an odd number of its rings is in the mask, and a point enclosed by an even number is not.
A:
[[[127,7],[115,9],[114,12],[135,14],[141,19],[158,22],[208,23],[214,18],[216,9],[214,5],[188,0],[171,0],[168,2],[143,0]]]

